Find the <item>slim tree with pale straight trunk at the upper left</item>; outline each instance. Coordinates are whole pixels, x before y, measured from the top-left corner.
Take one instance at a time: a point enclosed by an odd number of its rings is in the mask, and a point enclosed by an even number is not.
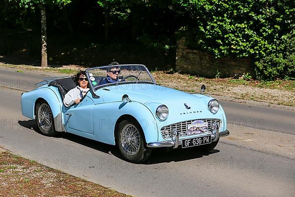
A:
[[[47,67],[47,25],[46,25],[46,5],[64,6],[71,0],[11,0],[16,1],[25,9],[35,9],[38,7],[41,14],[41,67]]]

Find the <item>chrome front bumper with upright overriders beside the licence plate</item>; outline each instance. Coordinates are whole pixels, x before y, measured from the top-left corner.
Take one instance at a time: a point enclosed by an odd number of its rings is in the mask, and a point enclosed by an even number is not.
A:
[[[173,130],[173,131],[174,131],[174,135],[172,135],[171,140],[169,140],[169,141],[161,141],[161,142],[150,142],[150,143],[147,144],[147,146],[149,148],[159,148],[159,147],[177,148],[179,145],[182,145],[182,139],[179,140],[179,135],[178,135],[177,130]],[[228,130],[219,132],[219,129],[216,129],[215,132],[211,132],[211,142],[216,141],[219,137],[224,137],[224,136],[227,136],[229,134],[230,134],[230,131],[228,131]],[[202,137],[202,136],[206,136],[206,135],[208,135],[208,133],[199,134],[198,136],[194,136],[194,137]]]

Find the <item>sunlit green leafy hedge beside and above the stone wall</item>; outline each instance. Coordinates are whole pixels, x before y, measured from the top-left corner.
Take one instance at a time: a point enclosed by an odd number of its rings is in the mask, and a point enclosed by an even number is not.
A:
[[[294,77],[294,0],[181,0],[188,46],[248,57],[259,79]]]

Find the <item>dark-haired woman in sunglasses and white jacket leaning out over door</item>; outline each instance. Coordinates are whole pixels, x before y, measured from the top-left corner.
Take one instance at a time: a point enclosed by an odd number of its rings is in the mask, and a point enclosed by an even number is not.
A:
[[[66,107],[69,107],[74,103],[76,104],[80,103],[81,99],[83,99],[83,97],[89,91],[89,88],[88,88],[89,82],[88,82],[85,71],[79,71],[75,75],[75,81],[78,82],[77,84],[78,86],[70,90],[64,96],[63,104]]]

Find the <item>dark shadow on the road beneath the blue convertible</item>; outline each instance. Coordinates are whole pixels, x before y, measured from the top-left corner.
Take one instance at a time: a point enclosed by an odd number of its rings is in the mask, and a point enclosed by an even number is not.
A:
[[[25,128],[30,130],[34,130],[39,134],[42,134],[36,127],[35,120],[27,120],[27,121],[18,121],[18,123]],[[66,132],[58,132],[56,138],[63,138],[83,146],[87,146],[97,151],[101,151],[106,154],[114,155],[115,157],[122,159],[120,153],[116,146],[105,144],[102,142],[98,142],[92,139],[88,139],[85,137],[81,137],[72,133]],[[203,156],[208,156],[210,154],[218,153],[219,150],[212,150],[210,152],[201,152],[200,147],[186,148],[186,149],[168,149],[159,148],[154,149],[152,154],[147,162],[144,164],[160,164],[160,163],[170,163],[170,162],[181,162],[186,160],[192,160],[197,158],[202,158]]]

